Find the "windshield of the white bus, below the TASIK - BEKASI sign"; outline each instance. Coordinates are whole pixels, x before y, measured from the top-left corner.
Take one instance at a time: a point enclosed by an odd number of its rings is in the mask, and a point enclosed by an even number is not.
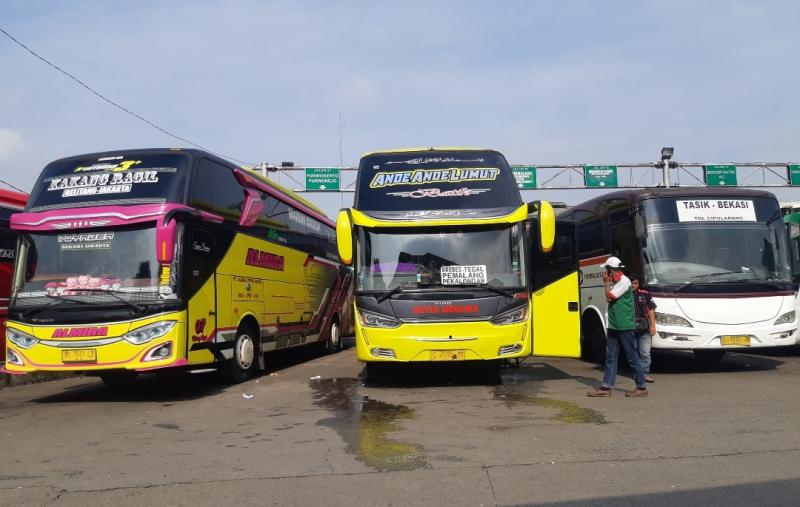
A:
[[[779,227],[780,226],[780,227]],[[783,224],[648,225],[648,284],[789,282]]]

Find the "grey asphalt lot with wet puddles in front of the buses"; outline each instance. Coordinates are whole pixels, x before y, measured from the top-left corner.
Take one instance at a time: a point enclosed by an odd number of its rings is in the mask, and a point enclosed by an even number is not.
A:
[[[655,358],[593,399],[597,365],[414,367],[369,377],[352,349],[114,390],[0,390],[0,505],[781,504],[800,494],[800,356]],[[774,501],[773,501],[774,500]]]

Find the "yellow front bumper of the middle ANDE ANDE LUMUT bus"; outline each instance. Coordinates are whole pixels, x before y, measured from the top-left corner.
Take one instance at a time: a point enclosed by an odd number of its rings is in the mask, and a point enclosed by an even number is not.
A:
[[[531,354],[530,322],[401,324],[394,329],[356,323],[356,355],[365,362],[472,361]]]

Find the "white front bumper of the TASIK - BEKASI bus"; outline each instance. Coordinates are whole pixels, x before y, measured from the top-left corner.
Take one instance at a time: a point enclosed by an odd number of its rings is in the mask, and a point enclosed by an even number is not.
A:
[[[798,343],[797,323],[747,326],[657,326],[654,349],[750,349],[785,347]]]

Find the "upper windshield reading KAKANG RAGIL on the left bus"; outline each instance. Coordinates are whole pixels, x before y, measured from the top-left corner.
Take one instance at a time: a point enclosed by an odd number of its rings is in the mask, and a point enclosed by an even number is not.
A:
[[[44,168],[34,185],[28,211],[181,202],[186,188],[187,160],[181,153],[57,160]]]

